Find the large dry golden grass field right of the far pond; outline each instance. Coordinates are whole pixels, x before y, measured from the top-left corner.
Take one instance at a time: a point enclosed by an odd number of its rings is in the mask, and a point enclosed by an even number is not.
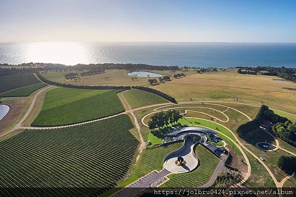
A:
[[[278,77],[238,74],[235,69],[203,74],[192,74],[181,79],[173,79],[159,86],[153,86],[177,101],[217,100],[246,102],[271,108],[280,108],[291,113],[296,111],[296,88],[291,81],[275,81]],[[280,107],[279,107],[279,103]]]

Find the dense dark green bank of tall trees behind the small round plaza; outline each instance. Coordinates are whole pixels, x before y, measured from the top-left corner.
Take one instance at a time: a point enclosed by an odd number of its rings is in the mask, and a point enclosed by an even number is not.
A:
[[[286,121],[290,121],[285,117],[279,116],[275,114],[272,110],[268,109],[268,106],[262,105],[259,109],[258,114],[254,120],[246,122],[240,125],[236,132],[240,137],[244,137],[247,134],[251,133],[255,129],[259,128],[260,124],[264,121],[268,120],[273,124],[276,123],[285,123]],[[291,121],[290,121],[291,122]]]

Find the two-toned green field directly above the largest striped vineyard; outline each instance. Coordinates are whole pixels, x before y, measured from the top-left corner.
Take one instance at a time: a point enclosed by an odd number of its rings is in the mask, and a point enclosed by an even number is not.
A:
[[[120,90],[56,88],[45,94],[32,126],[57,126],[94,120],[124,111]]]

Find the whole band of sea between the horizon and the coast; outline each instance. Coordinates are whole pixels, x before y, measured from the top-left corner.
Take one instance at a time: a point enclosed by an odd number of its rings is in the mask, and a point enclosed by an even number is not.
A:
[[[142,63],[163,66],[296,67],[296,43],[0,43],[0,64]]]

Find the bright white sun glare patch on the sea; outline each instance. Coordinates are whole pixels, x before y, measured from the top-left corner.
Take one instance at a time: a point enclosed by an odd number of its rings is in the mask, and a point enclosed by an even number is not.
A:
[[[76,42],[33,42],[27,46],[27,60],[75,65],[86,63],[87,50]]]

